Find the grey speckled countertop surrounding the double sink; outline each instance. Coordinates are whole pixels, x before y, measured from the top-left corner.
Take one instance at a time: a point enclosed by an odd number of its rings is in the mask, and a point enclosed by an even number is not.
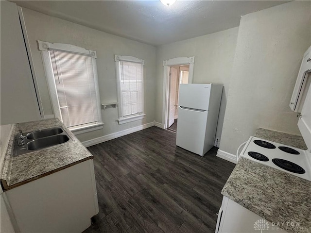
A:
[[[62,126],[73,142],[13,157],[14,136],[18,133],[18,130],[26,133],[57,126]],[[12,127],[12,134],[8,142],[0,176],[4,190],[94,158],[58,118],[18,123]]]

